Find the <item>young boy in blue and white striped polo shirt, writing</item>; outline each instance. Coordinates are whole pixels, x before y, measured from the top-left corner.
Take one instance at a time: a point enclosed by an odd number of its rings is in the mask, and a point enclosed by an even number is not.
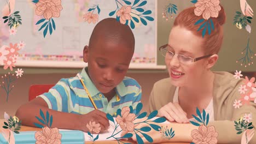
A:
[[[141,86],[125,77],[134,52],[135,38],[129,26],[114,18],[97,23],[89,46],[84,47],[84,62],[88,67],[80,73],[94,103],[91,103],[79,77],[61,79],[48,93],[19,107],[16,116],[22,125],[34,127],[40,109],[53,115],[51,127],[88,131],[86,123],[100,123],[106,130],[106,113],[115,115],[118,109],[132,105],[136,109],[141,100]]]

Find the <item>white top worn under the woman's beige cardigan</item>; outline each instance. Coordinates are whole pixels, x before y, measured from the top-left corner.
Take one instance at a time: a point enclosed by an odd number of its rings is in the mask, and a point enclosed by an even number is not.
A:
[[[173,103],[179,103],[179,87],[176,87],[173,96]],[[209,105],[205,109],[206,113],[209,113],[209,122],[214,121],[214,110],[213,110],[213,98],[211,99]],[[197,122],[195,118],[190,118],[189,121]]]

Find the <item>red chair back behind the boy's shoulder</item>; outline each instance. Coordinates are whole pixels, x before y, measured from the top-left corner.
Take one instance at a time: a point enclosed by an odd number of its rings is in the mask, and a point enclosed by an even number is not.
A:
[[[46,93],[52,88],[54,85],[31,85],[30,92],[28,93],[28,101],[36,98],[38,95]]]

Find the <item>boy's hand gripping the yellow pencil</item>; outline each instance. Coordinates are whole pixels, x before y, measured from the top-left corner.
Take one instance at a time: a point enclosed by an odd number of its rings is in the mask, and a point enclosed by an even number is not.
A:
[[[96,124],[99,123],[101,125],[101,131],[107,130],[109,127],[109,120],[106,115],[106,113],[100,110],[94,110],[85,115],[79,115],[79,123],[82,125],[79,130],[89,131],[86,124],[89,124],[90,121],[95,122]]]

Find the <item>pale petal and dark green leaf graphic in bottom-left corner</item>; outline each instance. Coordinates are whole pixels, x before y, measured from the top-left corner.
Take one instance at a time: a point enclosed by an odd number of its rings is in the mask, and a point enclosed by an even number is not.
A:
[[[2,126],[2,128],[4,128],[3,130],[1,130],[1,134],[3,134],[4,139],[7,140],[8,143],[15,143],[14,140],[14,135],[15,134],[19,134],[19,130],[21,128],[21,121],[19,120],[18,117],[16,116],[9,116],[8,113],[4,112],[4,126]]]

